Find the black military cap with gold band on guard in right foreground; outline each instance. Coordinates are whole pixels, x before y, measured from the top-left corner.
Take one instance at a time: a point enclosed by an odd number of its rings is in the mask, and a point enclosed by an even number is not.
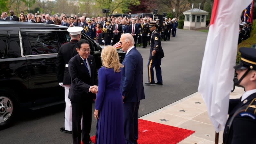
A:
[[[234,68],[236,70],[246,68],[256,70],[256,49],[241,47],[239,48],[239,52],[241,53],[241,60],[238,65],[234,66]]]

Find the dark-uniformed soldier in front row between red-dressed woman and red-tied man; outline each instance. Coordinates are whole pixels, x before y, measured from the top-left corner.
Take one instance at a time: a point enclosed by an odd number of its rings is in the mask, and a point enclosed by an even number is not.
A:
[[[109,21],[105,23],[105,27],[102,29],[102,42],[104,46],[110,45],[113,42],[112,27],[109,26]]]

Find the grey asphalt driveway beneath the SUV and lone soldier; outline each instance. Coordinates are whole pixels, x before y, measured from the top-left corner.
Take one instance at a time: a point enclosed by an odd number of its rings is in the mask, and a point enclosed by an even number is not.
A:
[[[205,32],[178,29],[176,37],[162,41],[165,55],[161,65],[163,85],[144,85],[146,99],[140,101],[139,117],[197,91],[206,38]],[[146,83],[150,48],[137,49],[144,60],[143,80]],[[13,126],[0,130],[0,143],[71,144],[72,135],[60,132],[60,127],[64,126],[64,109],[65,105],[60,104],[36,111],[21,111]],[[95,128],[93,118],[91,135],[95,135]]]

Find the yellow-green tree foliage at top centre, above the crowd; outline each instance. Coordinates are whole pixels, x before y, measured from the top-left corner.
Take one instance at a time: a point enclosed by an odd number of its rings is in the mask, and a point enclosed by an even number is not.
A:
[[[130,11],[129,6],[139,5],[140,0],[95,0],[100,9],[109,9],[113,13],[116,9]]]

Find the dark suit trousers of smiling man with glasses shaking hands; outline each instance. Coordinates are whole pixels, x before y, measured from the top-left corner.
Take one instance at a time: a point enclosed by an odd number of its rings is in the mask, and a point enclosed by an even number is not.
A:
[[[81,100],[72,104],[72,138],[73,144],[81,144],[81,131],[83,143],[91,141],[90,132],[92,125],[92,100]],[[81,118],[83,128],[81,130]]]

